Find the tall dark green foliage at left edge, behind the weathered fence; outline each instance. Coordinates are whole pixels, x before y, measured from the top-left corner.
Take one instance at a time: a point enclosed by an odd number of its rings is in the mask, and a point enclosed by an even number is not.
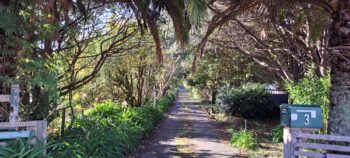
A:
[[[37,3],[36,0],[0,3],[0,63],[6,63],[0,68],[0,87],[19,83],[21,96],[31,95],[33,100],[22,99],[26,106],[21,107],[20,117],[35,120],[46,118],[50,105],[58,99],[57,73],[52,68],[51,54],[38,52],[42,49],[39,43],[51,39],[58,28],[42,21],[46,18],[37,14]]]

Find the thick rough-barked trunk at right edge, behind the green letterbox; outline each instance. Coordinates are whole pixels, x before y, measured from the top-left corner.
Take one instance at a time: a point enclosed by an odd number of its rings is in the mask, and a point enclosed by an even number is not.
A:
[[[350,135],[350,0],[338,0],[332,15],[329,132]]]

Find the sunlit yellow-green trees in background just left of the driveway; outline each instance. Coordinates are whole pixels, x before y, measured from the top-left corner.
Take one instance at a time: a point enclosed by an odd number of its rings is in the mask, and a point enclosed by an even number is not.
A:
[[[126,102],[127,106],[141,106],[151,99],[157,100],[164,96],[168,89],[173,86],[174,80],[181,71],[180,56],[174,54],[177,50],[170,47],[175,40],[161,36],[167,53],[163,64],[159,64],[155,58],[155,46],[150,34],[141,36],[136,34],[124,46],[134,45],[137,47],[127,50],[125,54],[112,56],[106,60],[98,77],[85,87],[94,87],[98,93],[89,97],[97,100],[113,100]],[[168,43],[168,44],[165,44]],[[170,46],[170,47],[169,47]],[[83,88],[79,93],[89,94],[91,88]]]

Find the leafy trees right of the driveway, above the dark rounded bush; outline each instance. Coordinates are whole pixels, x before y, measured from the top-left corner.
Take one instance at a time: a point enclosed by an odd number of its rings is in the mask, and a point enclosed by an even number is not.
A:
[[[278,78],[249,56],[217,45],[211,45],[187,83],[200,90],[203,97],[215,102],[222,87],[239,87],[248,82],[273,83]]]

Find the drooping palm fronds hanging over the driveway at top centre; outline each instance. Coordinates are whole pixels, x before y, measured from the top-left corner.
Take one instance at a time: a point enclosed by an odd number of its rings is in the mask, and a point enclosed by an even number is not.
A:
[[[162,10],[169,14],[175,30],[175,38],[181,47],[189,41],[191,25],[198,26],[205,15],[205,0],[132,0],[127,2],[134,11],[138,23],[146,24],[156,45],[159,63],[163,62],[157,19]],[[144,23],[141,22],[141,19]],[[144,26],[142,26],[144,27]]]

